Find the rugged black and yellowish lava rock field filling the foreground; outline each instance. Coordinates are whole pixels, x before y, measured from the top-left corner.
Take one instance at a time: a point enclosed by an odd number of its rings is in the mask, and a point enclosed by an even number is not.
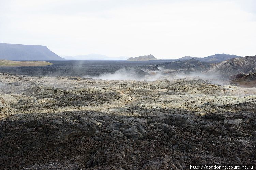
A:
[[[0,74],[0,169],[256,163],[256,88]]]

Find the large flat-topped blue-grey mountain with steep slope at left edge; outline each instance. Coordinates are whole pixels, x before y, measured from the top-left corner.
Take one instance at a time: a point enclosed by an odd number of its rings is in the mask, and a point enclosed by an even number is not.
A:
[[[0,59],[6,60],[65,60],[46,46],[0,43]]]

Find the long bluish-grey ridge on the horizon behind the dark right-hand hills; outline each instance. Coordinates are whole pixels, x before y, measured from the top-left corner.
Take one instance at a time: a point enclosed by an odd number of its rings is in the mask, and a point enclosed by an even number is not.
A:
[[[241,58],[241,56],[229,55],[229,54],[215,54],[215,55],[211,55],[211,56],[204,57],[204,58],[185,56],[185,57],[179,58],[177,60],[189,60],[192,58],[199,60],[199,61],[204,61],[204,62],[219,63],[219,62],[222,62],[222,61],[225,61],[228,59],[232,59],[232,58]]]

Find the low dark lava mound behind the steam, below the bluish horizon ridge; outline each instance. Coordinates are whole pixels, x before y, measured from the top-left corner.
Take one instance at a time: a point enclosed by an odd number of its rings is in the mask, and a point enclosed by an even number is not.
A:
[[[160,63],[155,65],[149,65],[145,67],[145,69],[149,70],[151,68],[157,68],[160,67],[162,69],[168,69],[168,70],[183,70],[183,71],[204,71],[211,67],[213,67],[214,64],[209,62],[202,62],[199,60],[195,60],[194,58],[190,60],[183,60],[183,61],[174,61],[174,62],[166,62],[166,63]]]

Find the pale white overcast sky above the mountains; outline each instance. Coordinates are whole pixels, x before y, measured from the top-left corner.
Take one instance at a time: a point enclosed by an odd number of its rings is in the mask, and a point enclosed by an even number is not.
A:
[[[256,55],[256,0],[0,0],[0,42],[57,55]]]

